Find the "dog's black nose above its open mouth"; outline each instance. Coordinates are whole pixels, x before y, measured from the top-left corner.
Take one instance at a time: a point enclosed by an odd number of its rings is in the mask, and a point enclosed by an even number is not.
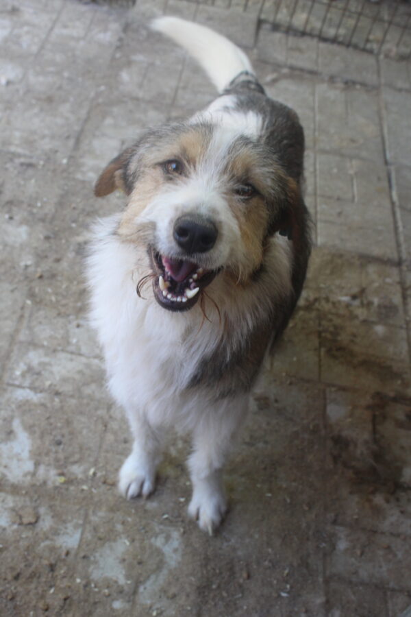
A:
[[[186,253],[206,253],[216,243],[217,228],[208,219],[185,215],[174,223],[174,239]]]

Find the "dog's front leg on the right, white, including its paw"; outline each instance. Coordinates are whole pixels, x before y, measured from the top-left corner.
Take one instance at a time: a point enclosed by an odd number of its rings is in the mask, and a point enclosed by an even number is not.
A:
[[[193,431],[193,450],[188,459],[192,481],[188,514],[210,535],[227,509],[221,468],[247,409],[247,394],[224,399],[204,413]]]

